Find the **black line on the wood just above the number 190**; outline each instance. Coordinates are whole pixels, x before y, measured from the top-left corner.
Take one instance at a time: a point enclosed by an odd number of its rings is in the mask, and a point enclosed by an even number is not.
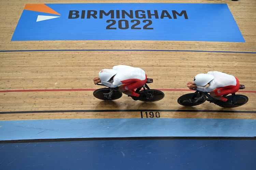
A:
[[[215,112],[215,113],[256,113],[256,111],[221,111],[221,110],[161,110],[161,109],[130,109],[130,110],[58,110],[58,111],[16,111],[0,112],[0,114],[20,114],[20,113],[71,113],[71,112]]]

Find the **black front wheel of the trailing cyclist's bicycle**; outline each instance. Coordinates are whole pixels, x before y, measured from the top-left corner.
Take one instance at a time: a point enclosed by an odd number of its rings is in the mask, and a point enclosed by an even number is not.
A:
[[[198,93],[189,93],[179,97],[177,102],[183,106],[196,106],[196,105],[202,104],[203,102],[205,102],[205,100],[206,100],[206,97],[204,95],[202,96]]]

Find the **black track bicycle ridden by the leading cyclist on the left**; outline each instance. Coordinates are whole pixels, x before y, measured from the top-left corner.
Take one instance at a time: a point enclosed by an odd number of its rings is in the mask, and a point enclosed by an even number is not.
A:
[[[165,97],[165,94],[156,89],[150,89],[147,85],[147,83],[153,83],[153,79],[148,79],[146,84],[144,84],[142,87],[136,89],[136,93],[140,95],[140,98],[138,100],[143,102],[155,102],[158,100],[161,100],[163,97]],[[97,85],[104,86],[103,84],[98,83]],[[141,90],[143,88],[143,90]],[[101,99],[101,100],[116,100],[122,97],[122,92],[118,90],[118,87],[115,88],[100,88],[93,92],[94,97]]]

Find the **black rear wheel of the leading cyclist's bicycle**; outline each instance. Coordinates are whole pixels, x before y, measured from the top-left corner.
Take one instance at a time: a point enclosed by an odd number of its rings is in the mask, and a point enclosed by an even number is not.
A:
[[[140,95],[140,101],[143,102],[156,102],[165,97],[165,94],[160,90],[146,89],[138,92]]]

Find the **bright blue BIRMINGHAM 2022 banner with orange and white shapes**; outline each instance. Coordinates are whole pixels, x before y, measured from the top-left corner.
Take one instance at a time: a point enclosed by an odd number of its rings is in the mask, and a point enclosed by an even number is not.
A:
[[[227,4],[26,4],[12,37],[25,40],[245,42]]]

